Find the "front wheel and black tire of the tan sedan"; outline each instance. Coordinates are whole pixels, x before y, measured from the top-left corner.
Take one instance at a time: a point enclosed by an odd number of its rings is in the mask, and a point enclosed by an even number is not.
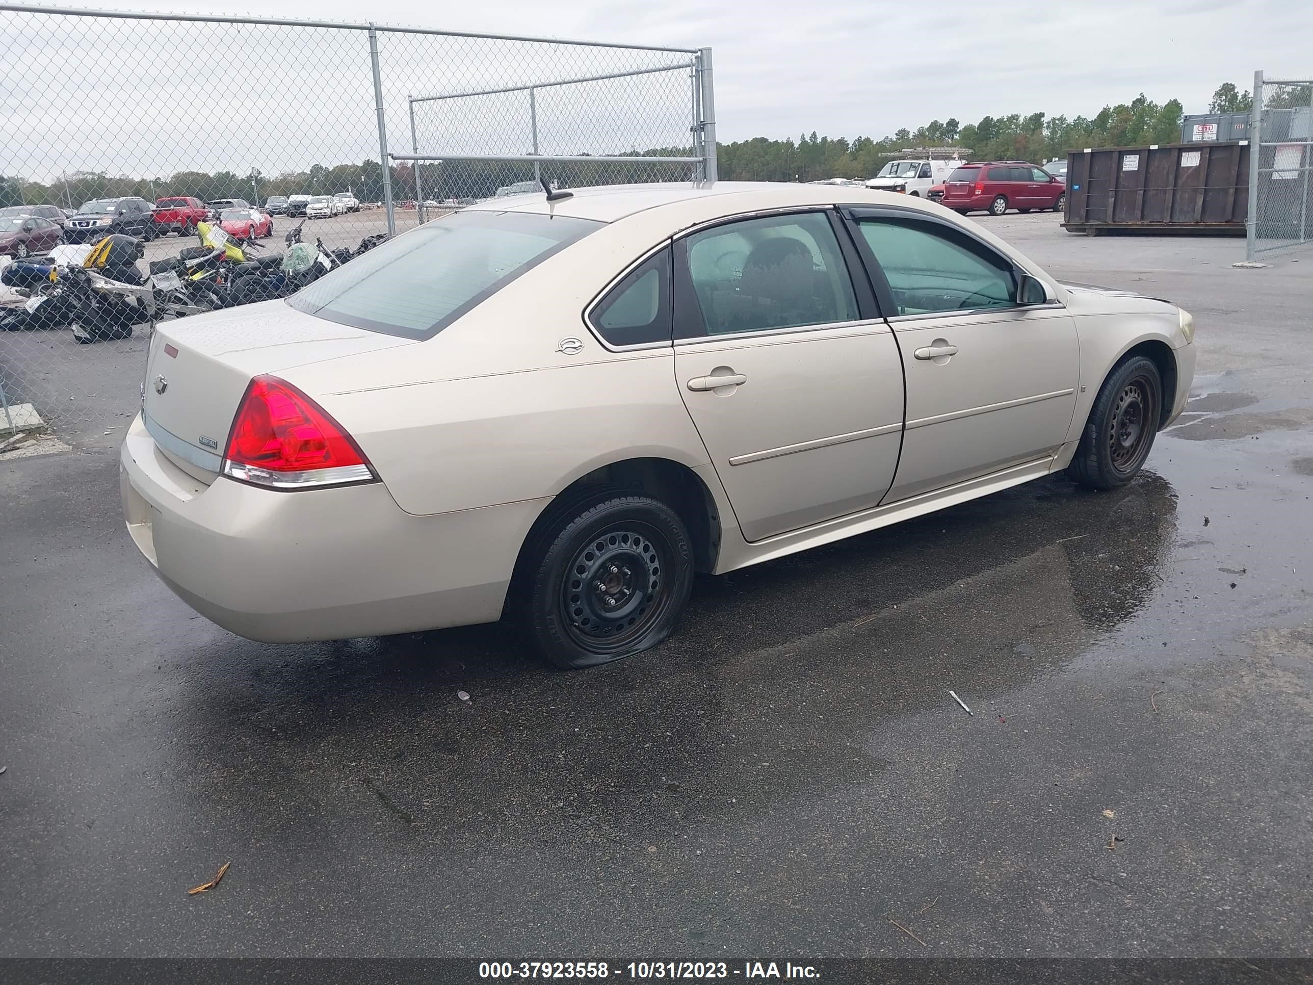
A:
[[[1119,362],[1099,387],[1066,473],[1091,489],[1120,489],[1149,457],[1162,420],[1162,378],[1145,356]]]

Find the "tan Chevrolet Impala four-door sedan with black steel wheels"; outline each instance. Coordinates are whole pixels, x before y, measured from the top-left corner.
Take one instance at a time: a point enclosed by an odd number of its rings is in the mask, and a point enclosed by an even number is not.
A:
[[[429,222],[151,339],[129,533],[234,633],[513,619],[583,667],[723,573],[1065,470],[1182,410],[1194,320],[915,198],[582,188]]]

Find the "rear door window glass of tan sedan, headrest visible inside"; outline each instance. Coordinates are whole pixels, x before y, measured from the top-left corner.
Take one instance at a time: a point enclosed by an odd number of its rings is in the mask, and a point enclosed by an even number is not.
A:
[[[683,242],[706,335],[857,319],[857,299],[830,219],[800,213],[743,219]]]

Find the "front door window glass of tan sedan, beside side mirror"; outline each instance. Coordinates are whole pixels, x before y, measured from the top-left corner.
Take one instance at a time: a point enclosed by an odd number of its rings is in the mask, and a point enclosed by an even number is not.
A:
[[[1016,306],[1011,264],[965,234],[934,222],[860,219],[899,315]]]

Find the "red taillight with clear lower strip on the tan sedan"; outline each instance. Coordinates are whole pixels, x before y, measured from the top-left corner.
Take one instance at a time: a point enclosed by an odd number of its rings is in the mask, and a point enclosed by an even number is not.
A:
[[[305,489],[377,477],[351,435],[291,383],[257,376],[228,432],[223,474],[272,489]]]

